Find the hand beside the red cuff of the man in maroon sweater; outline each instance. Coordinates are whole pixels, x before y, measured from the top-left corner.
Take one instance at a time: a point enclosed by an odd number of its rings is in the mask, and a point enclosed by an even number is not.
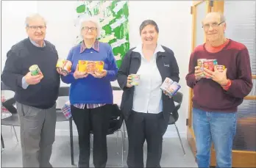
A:
[[[211,70],[208,70],[207,68],[204,68],[205,75],[210,76],[210,78],[213,79],[213,81],[216,81],[221,86],[227,85],[227,68],[223,70],[223,72],[219,72],[214,66],[214,72]]]

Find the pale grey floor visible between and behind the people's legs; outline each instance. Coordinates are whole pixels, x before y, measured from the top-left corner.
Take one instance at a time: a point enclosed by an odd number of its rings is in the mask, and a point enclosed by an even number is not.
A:
[[[68,125],[68,123],[58,123]],[[171,125],[172,126],[172,125]],[[75,126],[74,126],[75,127]],[[19,128],[15,128],[19,139]],[[58,131],[57,131],[58,132]],[[174,132],[175,133],[175,132]],[[21,166],[21,145],[15,139],[14,131],[10,126],[1,126],[1,134],[4,138],[4,150],[1,151],[1,167],[22,167]],[[175,133],[176,134],[176,133]],[[163,154],[161,167],[196,167],[196,162],[191,153],[185,136],[182,136],[182,142],[185,147],[185,156],[182,152],[182,147],[179,143],[178,136],[165,136],[163,140]],[[122,167],[121,161],[121,136],[118,136],[116,142],[116,134],[107,136],[108,160],[107,167]],[[125,149],[127,149],[127,139]],[[75,164],[77,164],[77,156],[79,153],[78,139],[74,128],[74,156]],[[146,158],[146,144],[144,145],[144,159]],[[126,164],[127,151],[124,152],[124,167]],[[91,167],[93,167],[92,157],[90,158]],[[56,139],[53,146],[51,164],[53,167],[77,167],[71,166],[70,158],[70,143],[69,136],[61,133],[56,134]]]

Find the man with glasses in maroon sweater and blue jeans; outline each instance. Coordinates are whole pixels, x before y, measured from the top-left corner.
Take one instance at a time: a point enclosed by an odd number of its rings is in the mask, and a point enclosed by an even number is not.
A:
[[[238,106],[252,90],[252,71],[245,45],[224,36],[224,16],[210,12],[202,21],[207,42],[191,54],[188,87],[193,89],[193,131],[196,161],[210,166],[210,147],[216,150],[216,167],[232,167],[232,140],[235,136]],[[224,70],[197,66],[198,59],[216,59]],[[209,78],[206,78],[209,76]]]

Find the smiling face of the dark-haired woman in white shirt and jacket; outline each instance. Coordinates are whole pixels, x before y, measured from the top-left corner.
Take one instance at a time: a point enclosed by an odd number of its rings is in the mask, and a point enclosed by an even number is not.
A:
[[[151,24],[147,25],[141,31],[141,41],[143,44],[152,45],[157,44],[158,33],[155,27]]]

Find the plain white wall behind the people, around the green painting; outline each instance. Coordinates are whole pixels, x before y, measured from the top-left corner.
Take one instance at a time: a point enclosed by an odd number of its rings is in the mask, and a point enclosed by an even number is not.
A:
[[[32,12],[39,12],[46,18],[46,40],[56,45],[60,57],[65,58],[74,45],[77,35],[77,29],[74,27],[76,3],[76,1],[2,1],[1,41],[4,43],[1,45],[1,65],[4,66],[6,53],[10,47],[26,37],[24,20],[26,15]],[[191,53],[191,4],[192,1],[129,1],[130,47],[141,42],[138,30],[141,22],[152,19],[157,22],[160,29],[159,43],[171,48],[176,56],[180,70],[179,83],[184,94],[179,111],[180,119],[177,123],[182,135],[185,135],[185,118],[188,113],[188,87],[185,83],[185,75],[188,73]],[[116,82],[113,84],[117,85]],[[168,131],[172,134],[175,130],[168,128]],[[176,132],[174,134],[176,135]]]

